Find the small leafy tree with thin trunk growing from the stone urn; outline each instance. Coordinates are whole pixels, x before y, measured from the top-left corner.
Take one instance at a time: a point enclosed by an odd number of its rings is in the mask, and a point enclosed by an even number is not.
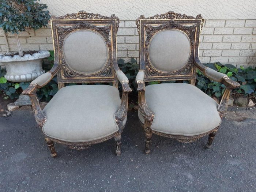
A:
[[[38,3],[37,0],[0,1],[0,27],[5,33],[15,34],[19,56],[23,56],[19,31],[47,27],[50,14],[49,11],[45,11],[46,8],[46,4]]]

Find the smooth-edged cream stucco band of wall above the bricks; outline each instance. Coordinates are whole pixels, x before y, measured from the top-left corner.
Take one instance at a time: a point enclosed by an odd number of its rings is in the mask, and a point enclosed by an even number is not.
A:
[[[136,20],[140,15],[153,16],[167,11],[205,19],[256,19],[256,0],[41,0],[51,15],[65,15],[80,10],[120,20]]]

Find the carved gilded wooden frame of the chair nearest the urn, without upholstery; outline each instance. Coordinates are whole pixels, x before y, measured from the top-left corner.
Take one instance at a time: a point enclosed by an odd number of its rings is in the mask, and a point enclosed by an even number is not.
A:
[[[102,16],[99,14],[87,13],[85,11],[79,11],[75,14],[67,14],[60,17],[52,17],[50,20],[50,26],[52,28],[52,36],[53,36],[53,46],[54,46],[54,65],[52,69],[50,69],[50,78],[45,80],[43,84],[37,84],[31,82],[30,86],[23,91],[23,94],[27,94],[30,96],[35,120],[37,121],[39,127],[42,129],[44,126],[47,117],[42,112],[40,108],[38,98],[36,96],[36,91],[38,88],[45,86],[56,74],[58,79],[59,89],[65,86],[65,83],[112,83],[114,87],[118,88],[118,80],[120,81],[123,89],[123,94],[121,98],[120,108],[115,114],[115,121],[118,125],[118,131],[113,133],[112,135],[106,136],[105,138],[101,138],[98,140],[93,140],[90,142],[80,142],[80,143],[72,143],[65,142],[62,140],[50,138],[49,136],[45,136],[46,143],[48,144],[52,157],[56,157],[57,153],[54,148],[53,142],[61,143],[69,148],[73,149],[84,149],[88,148],[92,144],[101,143],[108,139],[114,138],[116,141],[116,154],[121,154],[121,133],[123,131],[124,125],[123,122],[127,117],[128,110],[128,93],[131,92],[131,89],[128,85],[128,80],[122,78],[118,78],[117,72],[121,72],[118,68],[117,64],[117,30],[118,24],[120,20],[115,16],[111,15]],[[67,27],[68,26],[68,27]],[[62,46],[64,38],[75,30],[79,29],[87,29],[97,31],[97,33],[101,34],[108,46],[109,57],[106,65],[101,68],[97,72],[93,73],[82,73],[77,72],[69,68],[69,66],[65,63],[65,59],[63,58]],[[109,39],[109,34],[111,31],[111,40]],[[100,101],[99,101],[100,102]]]

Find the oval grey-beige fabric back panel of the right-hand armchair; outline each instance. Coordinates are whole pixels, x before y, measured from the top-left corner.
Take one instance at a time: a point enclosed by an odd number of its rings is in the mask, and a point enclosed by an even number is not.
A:
[[[160,71],[177,71],[184,67],[191,53],[187,34],[175,29],[155,33],[148,45],[148,59]]]

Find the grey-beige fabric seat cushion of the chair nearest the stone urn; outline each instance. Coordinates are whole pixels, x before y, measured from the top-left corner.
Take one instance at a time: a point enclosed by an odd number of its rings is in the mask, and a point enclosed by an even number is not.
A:
[[[121,99],[116,87],[74,85],[60,89],[45,106],[42,131],[67,142],[89,142],[118,131],[114,114]]]

